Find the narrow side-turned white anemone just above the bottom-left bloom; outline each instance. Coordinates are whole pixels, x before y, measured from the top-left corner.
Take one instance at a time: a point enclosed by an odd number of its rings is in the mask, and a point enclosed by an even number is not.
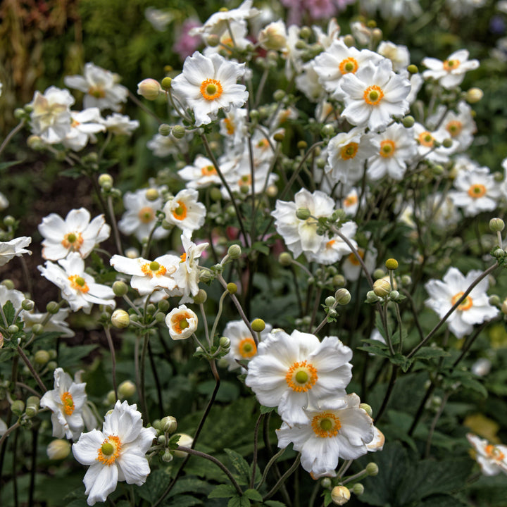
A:
[[[40,401],[42,408],[51,410],[53,436],[77,440],[84,429],[82,409],[87,395],[84,382],[75,383],[62,368],[54,370],[54,389],[44,393]]]

